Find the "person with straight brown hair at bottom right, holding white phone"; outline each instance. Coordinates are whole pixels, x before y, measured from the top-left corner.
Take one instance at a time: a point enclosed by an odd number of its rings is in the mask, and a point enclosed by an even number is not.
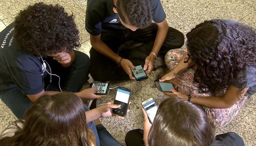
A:
[[[143,110],[144,129],[128,131],[127,146],[244,146],[235,132],[216,135],[202,107],[169,97],[158,107],[151,124]]]

